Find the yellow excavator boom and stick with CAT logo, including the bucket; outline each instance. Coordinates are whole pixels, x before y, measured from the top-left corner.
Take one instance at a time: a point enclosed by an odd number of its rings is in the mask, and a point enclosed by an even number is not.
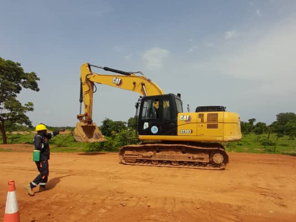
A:
[[[91,67],[101,68],[105,71],[122,75],[103,75],[99,73],[93,73]],[[96,142],[106,140],[92,120],[93,94],[95,88],[94,83],[138,92],[143,96],[164,94],[163,90],[160,89],[156,83],[152,82],[149,78],[146,78],[141,72],[124,72],[121,70],[116,70],[109,67],[101,67],[89,63],[84,63],[81,66],[80,81],[81,87],[79,102],[81,104],[82,102],[84,103],[84,113],[81,114],[80,106],[80,114],[77,115],[79,123],[76,124],[74,129],[74,138],[77,141]]]

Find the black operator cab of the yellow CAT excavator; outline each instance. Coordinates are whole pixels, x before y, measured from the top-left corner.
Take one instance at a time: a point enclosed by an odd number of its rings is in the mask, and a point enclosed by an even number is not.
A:
[[[183,112],[180,95],[141,97],[139,135],[177,135],[178,113]]]

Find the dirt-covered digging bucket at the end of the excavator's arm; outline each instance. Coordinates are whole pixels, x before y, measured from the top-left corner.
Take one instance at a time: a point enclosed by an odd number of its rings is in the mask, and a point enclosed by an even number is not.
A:
[[[94,143],[107,141],[95,123],[91,125],[77,123],[73,135],[74,139],[79,142]]]

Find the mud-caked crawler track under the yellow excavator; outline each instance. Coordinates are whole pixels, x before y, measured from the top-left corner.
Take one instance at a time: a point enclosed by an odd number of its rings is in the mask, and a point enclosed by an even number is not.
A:
[[[147,143],[127,145],[119,150],[126,165],[223,170],[228,155],[219,143]]]

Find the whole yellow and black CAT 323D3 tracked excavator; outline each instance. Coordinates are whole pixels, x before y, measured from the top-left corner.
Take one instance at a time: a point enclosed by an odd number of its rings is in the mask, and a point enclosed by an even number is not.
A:
[[[121,75],[94,73],[91,67]],[[195,112],[184,112],[181,94],[165,94],[140,71],[125,72],[84,63],[80,80],[79,122],[73,131],[76,141],[106,141],[92,120],[94,83],[141,94],[135,107],[136,131],[142,142],[120,148],[119,160],[123,164],[225,169],[229,158],[222,142],[239,141],[242,137],[237,113],[226,111],[224,106],[199,106]]]

